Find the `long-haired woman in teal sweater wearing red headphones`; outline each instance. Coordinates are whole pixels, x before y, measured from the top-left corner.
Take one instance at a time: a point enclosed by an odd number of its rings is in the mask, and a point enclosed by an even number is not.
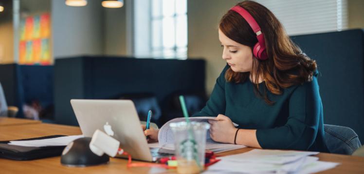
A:
[[[263,5],[243,1],[219,23],[222,59],[206,106],[214,141],[255,148],[328,152],[317,65]],[[234,127],[233,123],[239,126]],[[145,131],[151,141],[158,130]]]

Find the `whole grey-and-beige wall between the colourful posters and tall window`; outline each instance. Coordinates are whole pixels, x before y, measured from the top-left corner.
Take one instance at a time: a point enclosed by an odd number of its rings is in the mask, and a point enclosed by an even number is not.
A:
[[[110,9],[102,0],[88,0],[84,7],[52,0],[53,56],[127,55],[126,8]]]

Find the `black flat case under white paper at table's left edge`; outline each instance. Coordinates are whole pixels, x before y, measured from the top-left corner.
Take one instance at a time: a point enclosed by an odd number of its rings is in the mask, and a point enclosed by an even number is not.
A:
[[[37,137],[23,140],[42,140],[49,138],[64,137],[66,135],[52,135],[45,137]],[[11,140],[20,141],[20,140]],[[8,144],[10,141],[0,141],[0,158],[14,159],[14,160],[32,160],[40,158],[48,158],[60,156],[63,149],[66,147],[62,146],[45,146],[45,147],[27,147]]]

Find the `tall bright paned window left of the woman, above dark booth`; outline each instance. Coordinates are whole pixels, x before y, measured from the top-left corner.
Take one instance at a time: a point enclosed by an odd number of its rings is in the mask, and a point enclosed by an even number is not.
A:
[[[149,4],[145,0],[139,0],[144,4],[137,1],[135,7],[138,8],[134,13],[135,56],[186,59],[187,0],[149,0]]]

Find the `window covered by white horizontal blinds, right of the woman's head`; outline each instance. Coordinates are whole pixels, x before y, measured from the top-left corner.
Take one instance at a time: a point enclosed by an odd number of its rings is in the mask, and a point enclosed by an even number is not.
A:
[[[255,0],[280,20],[289,35],[347,28],[347,0]]]

